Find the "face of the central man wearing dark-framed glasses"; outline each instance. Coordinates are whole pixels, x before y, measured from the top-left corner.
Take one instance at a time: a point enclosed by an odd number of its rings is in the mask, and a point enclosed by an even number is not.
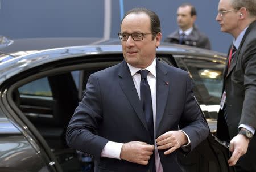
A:
[[[123,19],[121,33],[151,33],[150,18],[144,13],[131,13]],[[156,48],[160,45],[161,33],[144,35],[143,40],[134,41],[131,35],[122,42],[123,57],[131,66],[146,68],[151,65],[156,55]]]

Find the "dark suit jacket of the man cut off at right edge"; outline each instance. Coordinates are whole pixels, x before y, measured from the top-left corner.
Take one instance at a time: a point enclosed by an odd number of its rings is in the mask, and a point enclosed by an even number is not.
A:
[[[256,128],[256,21],[247,28],[241,44],[232,58],[229,70],[227,66],[224,70],[224,78],[228,132],[232,139],[238,134],[240,124]],[[220,110],[218,137],[229,142],[223,115],[224,111]],[[256,137],[254,135],[249,143],[247,153],[240,157],[240,161],[243,166],[253,169],[250,171],[256,171],[255,159]]]

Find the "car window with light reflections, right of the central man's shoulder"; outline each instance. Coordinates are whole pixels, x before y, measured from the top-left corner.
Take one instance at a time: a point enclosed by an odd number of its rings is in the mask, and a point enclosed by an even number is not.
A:
[[[179,58],[183,69],[187,70],[193,80],[195,96],[199,101],[205,117],[217,119],[220,109],[222,77],[225,62],[199,58]]]

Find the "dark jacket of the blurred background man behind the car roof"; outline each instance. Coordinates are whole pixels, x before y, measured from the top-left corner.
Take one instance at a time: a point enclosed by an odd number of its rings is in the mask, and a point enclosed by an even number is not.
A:
[[[172,32],[168,35],[164,42],[171,42],[179,44],[179,30]],[[196,27],[193,28],[192,32],[185,37],[183,45],[196,46],[199,48],[209,49],[210,50],[210,40],[204,33],[201,33]]]

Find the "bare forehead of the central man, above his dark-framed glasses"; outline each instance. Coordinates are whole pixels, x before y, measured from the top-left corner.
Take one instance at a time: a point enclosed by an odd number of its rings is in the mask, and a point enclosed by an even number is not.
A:
[[[139,32],[139,31],[150,31],[151,24],[150,18],[145,13],[131,13],[128,14],[121,24],[122,32]]]

